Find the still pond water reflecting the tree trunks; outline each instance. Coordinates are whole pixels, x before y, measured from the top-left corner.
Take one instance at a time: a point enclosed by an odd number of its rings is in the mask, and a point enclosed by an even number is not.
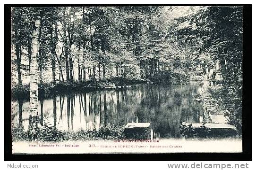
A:
[[[181,122],[202,122],[197,83],[137,85],[122,89],[63,94],[39,100],[40,123],[63,131],[93,130],[150,122],[159,138],[179,138]],[[12,123],[28,129],[29,102],[12,101]]]

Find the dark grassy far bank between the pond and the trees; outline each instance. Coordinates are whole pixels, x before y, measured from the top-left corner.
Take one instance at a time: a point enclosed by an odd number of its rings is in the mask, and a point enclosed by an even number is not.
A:
[[[126,80],[125,80],[126,81]],[[60,82],[53,84],[38,84],[38,99],[51,98],[53,95],[61,95],[68,93],[79,93],[79,92],[92,92],[96,90],[115,90],[122,89],[138,85],[147,84],[170,84],[170,85],[180,85],[187,84],[191,82],[201,82],[201,80],[174,80],[169,82],[154,82],[150,80],[132,80],[126,81],[124,83],[114,82],[114,81],[96,81],[90,82],[86,81],[70,81],[70,82]],[[29,100],[29,85],[15,85],[11,89],[12,100]]]

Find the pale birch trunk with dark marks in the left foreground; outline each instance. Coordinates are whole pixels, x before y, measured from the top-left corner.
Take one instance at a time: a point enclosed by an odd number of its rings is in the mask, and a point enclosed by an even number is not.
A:
[[[34,31],[32,34],[32,54],[30,63],[30,100],[29,100],[29,127],[28,135],[30,140],[34,140],[38,134],[38,61],[37,54],[39,51],[39,32],[41,29],[41,10],[38,9],[34,22]]]

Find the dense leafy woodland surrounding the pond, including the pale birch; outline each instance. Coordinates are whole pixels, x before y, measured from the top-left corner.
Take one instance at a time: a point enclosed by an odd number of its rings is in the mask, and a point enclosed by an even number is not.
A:
[[[30,100],[29,131],[54,93],[203,80],[216,65],[208,91],[241,128],[242,7],[15,7],[11,24],[12,98]]]

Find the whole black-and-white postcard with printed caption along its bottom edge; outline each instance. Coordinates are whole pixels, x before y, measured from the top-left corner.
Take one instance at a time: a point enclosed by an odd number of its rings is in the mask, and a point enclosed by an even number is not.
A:
[[[243,6],[10,10],[13,154],[242,152]]]

